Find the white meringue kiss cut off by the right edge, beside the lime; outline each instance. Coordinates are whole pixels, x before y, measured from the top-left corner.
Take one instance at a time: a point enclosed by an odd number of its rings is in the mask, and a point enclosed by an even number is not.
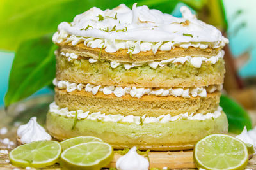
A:
[[[250,143],[253,145],[253,148],[256,150],[256,127],[247,132],[246,126],[244,126],[241,134],[237,135],[236,138],[240,139],[245,143]]]

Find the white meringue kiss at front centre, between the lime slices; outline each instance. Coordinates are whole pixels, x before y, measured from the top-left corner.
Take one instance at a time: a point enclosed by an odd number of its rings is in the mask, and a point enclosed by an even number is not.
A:
[[[133,147],[116,161],[116,168],[118,170],[148,170],[149,162],[147,158],[137,153],[136,147]]]

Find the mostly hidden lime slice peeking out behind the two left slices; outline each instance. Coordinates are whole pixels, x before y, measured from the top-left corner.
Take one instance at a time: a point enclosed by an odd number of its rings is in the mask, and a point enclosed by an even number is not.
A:
[[[62,141],[60,143],[62,150],[66,150],[67,148],[70,148],[71,146],[78,145],[80,143],[88,143],[92,141],[101,141],[102,139],[96,138],[94,136],[78,136],[74,138],[67,139],[65,141]]]

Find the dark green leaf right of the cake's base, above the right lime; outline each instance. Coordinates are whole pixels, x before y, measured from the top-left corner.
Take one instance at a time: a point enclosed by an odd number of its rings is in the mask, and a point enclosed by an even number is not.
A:
[[[235,101],[228,96],[221,95],[220,106],[228,117],[228,132],[239,134],[243,131],[244,126],[246,126],[248,130],[252,129],[250,116]]]

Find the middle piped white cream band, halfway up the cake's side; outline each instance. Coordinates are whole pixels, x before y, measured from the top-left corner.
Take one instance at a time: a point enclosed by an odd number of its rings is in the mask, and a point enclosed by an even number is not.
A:
[[[74,90],[85,90],[86,92],[92,92],[93,95],[97,92],[103,92],[106,95],[114,94],[116,97],[122,97],[129,94],[131,97],[141,98],[144,95],[155,96],[175,96],[175,97],[206,97],[207,92],[212,93],[216,90],[221,91],[223,85],[209,85],[208,87],[189,87],[189,88],[151,88],[151,87],[120,87],[120,86],[104,86],[104,85],[92,85],[90,83],[70,83],[69,81],[58,81],[56,78],[52,83],[58,87],[58,89],[66,89],[67,92]]]

